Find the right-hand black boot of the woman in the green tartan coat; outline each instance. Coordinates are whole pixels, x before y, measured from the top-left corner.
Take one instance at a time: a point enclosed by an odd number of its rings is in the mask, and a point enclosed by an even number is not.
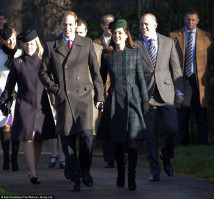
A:
[[[131,148],[128,150],[128,187],[129,190],[136,190],[135,182],[136,165],[137,165],[138,150]]]

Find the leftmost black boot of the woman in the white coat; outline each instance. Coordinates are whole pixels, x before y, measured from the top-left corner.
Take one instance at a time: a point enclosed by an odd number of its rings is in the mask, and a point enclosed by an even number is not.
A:
[[[3,154],[4,154],[3,170],[7,171],[10,169],[10,158],[9,158],[10,133],[9,132],[1,132],[1,144],[2,144]]]

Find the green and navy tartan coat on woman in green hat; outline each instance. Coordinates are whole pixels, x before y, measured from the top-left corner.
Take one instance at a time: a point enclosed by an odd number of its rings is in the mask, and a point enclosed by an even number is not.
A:
[[[109,72],[111,86],[98,128],[98,139],[113,143],[146,139],[141,102],[148,100],[142,57],[138,48],[125,48],[103,56],[101,76],[105,84]]]

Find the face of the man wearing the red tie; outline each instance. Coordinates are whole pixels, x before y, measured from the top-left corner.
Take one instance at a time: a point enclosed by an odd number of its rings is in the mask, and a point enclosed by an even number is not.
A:
[[[64,33],[65,37],[70,39],[76,30],[76,22],[75,18],[72,15],[64,16],[62,20],[62,32]]]

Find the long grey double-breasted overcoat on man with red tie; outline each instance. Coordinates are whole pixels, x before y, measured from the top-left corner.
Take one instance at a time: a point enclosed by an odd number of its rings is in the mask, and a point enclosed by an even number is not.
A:
[[[93,83],[89,80],[89,71]],[[94,101],[104,101],[92,40],[76,34],[71,50],[62,34],[47,41],[38,75],[47,90],[55,95],[56,134],[66,136],[92,129],[93,87]]]

